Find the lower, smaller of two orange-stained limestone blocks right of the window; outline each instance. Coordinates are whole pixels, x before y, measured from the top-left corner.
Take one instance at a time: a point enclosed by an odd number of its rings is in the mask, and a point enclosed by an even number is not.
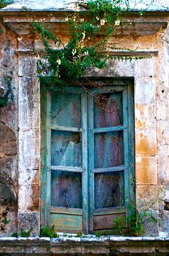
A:
[[[136,156],[136,184],[157,184],[157,159],[153,156]]]

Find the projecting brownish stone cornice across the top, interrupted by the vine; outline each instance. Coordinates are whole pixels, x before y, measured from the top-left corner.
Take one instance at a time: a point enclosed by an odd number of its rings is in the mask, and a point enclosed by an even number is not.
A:
[[[33,33],[31,22],[42,22],[45,26],[57,34],[69,33],[65,17],[70,11],[0,11],[4,23],[11,31],[18,35],[28,35]],[[51,15],[49,15],[51,14]],[[81,16],[85,16],[85,11],[80,11]],[[130,14],[123,25],[116,26],[115,36],[152,36],[161,29],[167,28],[167,16],[135,16]]]

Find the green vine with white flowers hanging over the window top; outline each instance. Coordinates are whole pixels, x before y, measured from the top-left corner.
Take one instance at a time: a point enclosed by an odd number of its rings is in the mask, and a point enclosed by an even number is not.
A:
[[[70,31],[66,45],[45,28],[44,22],[32,24],[45,46],[46,55],[37,55],[38,74],[45,86],[51,91],[64,90],[70,82],[80,81],[91,67],[107,67],[109,54],[100,53],[107,49],[108,39],[121,23],[121,3],[122,0],[89,0],[77,4],[77,11],[65,16]],[[80,7],[86,9],[84,15],[78,11]]]

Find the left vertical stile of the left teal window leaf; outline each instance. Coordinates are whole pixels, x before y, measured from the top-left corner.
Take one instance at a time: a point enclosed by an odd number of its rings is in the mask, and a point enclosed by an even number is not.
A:
[[[47,184],[46,184],[46,224],[50,225],[50,193],[51,193],[51,171],[49,167],[51,166],[51,130],[48,129],[50,126],[50,112],[51,112],[51,96],[50,92],[47,92],[47,114],[46,114],[46,124],[47,124],[47,151],[46,151],[46,166],[47,166]]]

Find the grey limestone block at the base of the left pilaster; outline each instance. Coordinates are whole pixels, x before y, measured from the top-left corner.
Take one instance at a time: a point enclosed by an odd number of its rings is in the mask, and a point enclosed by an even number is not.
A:
[[[31,211],[18,211],[18,233],[20,233],[21,228],[23,230],[30,230],[31,231],[30,236],[38,236],[40,232],[40,215],[36,212]]]

